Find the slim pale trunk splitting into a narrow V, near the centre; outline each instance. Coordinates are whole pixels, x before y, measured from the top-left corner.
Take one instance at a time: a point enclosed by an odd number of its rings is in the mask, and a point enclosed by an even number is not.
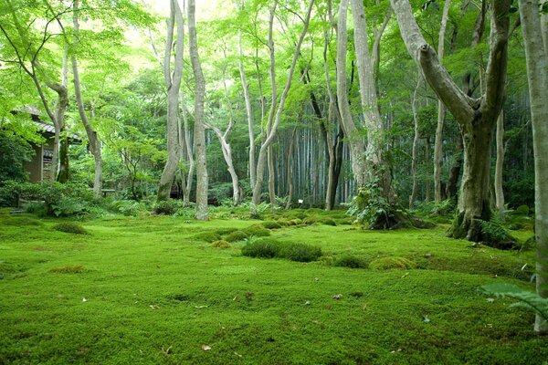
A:
[[[297,65],[297,58],[300,54],[300,45],[302,45],[302,41],[304,40],[304,36],[306,36],[309,22],[311,19],[311,11],[312,11],[312,5],[314,5],[314,0],[311,0],[308,9],[307,14],[304,19],[304,26],[302,28],[302,32],[300,33],[299,41],[297,42],[297,45],[295,47],[295,51],[293,52],[293,58],[291,60],[291,66],[288,71],[288,80],[286,82],[286,86],[282,92],[281,98],[279,99],[279,105],[276,107],[275,102],[275,95],[276,95],[276,73],[275,73],[275,57],[274,57],[274,43],[272,41],[272,26],[274,22],[274,11],[276,10],[276,5],[278,2],[275,2],[275,4],[272,6],[270,10],[270,19],[269,19],[269,48],[270,48],[270,78],[272,83],[272,105],[271,110],[269,113],[269,121],[267,125],[267,136],[265,141],[260,146],[260,150],[258,151],[258,162],[257,162],[257,183],[255,185],[255,188],[253,189],[253,198],[252,203],[257,205],[260,203],[260,193],[262,190],[262,183],[264,180],[264,173],[266,168],[266,162],[267,162],[267,152],[269,149],[270,144],[274,141],[274,138],[276,137],[276,132],[278,130],[279,122],[281,121],[281,115],[283,113],[285,102],[288,96],[288,93],[290,91],[291,87],[291,79],[293,78],[293,73],[295,71],[295,66]],[[276,110],[276,114],[274,116],[274,110]]]

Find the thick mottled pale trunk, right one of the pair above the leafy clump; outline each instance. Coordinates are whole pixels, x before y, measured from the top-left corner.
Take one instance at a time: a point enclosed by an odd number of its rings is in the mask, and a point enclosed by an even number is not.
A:
[[[360,96],[364,113],[364,127],[367,130],[365,162],[368,179],[378,179],[382,194],[392,201],[392,176],[385,161],[385,127],[377,104],[373,61],[369,56],[367,24],[362,0],[351,0],[354,25],[354,48],[360,82]]]

